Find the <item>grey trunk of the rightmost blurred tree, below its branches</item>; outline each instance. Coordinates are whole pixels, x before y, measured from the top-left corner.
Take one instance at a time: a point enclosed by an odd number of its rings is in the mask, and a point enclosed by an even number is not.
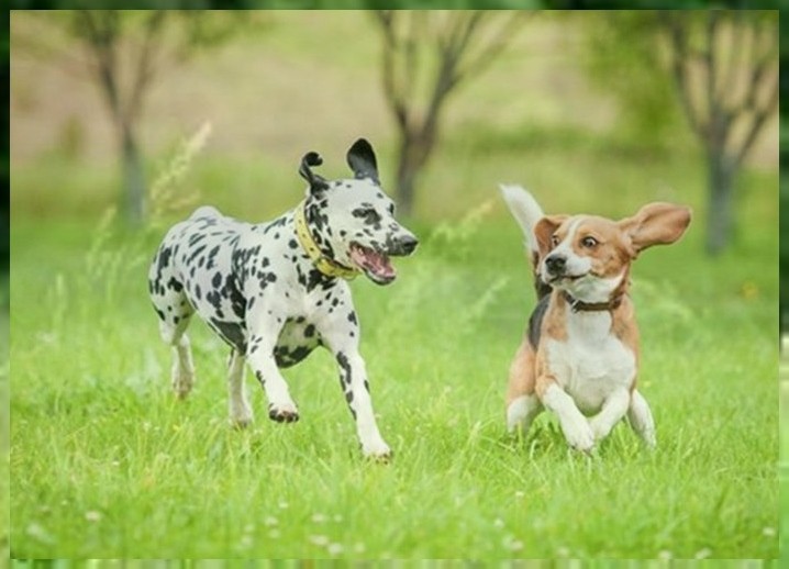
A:
[[[718,255],[725,248],[732,236],[736,166],[722,149],[711,149],[708,163],[707,252],[710,255]]]

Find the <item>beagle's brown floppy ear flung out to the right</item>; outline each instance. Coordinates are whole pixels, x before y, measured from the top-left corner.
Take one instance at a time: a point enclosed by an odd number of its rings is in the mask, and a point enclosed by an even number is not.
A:
[[[647,203],[632,217],[619,222],[637,255],[653,245],[669,245],[679,239],[690,223],[690,208],[673,203]]]

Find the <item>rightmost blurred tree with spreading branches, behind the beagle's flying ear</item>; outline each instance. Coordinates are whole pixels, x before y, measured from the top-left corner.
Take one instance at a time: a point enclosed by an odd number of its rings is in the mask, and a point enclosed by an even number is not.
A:
[[[777,109],[777,13],[669,11],[660,21],[675,87],[707,156],[707,249],[715,255],[732,235],[736,174]]]

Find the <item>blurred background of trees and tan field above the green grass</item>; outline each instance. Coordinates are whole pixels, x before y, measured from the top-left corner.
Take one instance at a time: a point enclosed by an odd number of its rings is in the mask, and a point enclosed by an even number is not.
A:
[[[462,215],[498,181],[548,191],[555,210],[618,214],[652,194],[696,201],[716,254],[746,232],[747,177],[778,165],[776,14],[103,11],[11,23],[14,220],[119,205],[144,223],[185,144],[190,201],[265,219],[298,199],[304,152],[344,175],[344,149],[364,135],[385,186],[421,220]],[[694,164],[677,183],[667,166],[681,159]],[[626,188],[660,165],[664,177]]]

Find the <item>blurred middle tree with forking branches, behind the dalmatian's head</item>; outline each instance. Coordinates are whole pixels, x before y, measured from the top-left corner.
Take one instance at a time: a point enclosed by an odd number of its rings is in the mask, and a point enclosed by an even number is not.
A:
[[[435,148],[449,94],[493,62],[525,15],[523,11],[432,10],[374,14],[382,34],[384,96],[399,133],[396,193],[409,214],[416,178]]]

